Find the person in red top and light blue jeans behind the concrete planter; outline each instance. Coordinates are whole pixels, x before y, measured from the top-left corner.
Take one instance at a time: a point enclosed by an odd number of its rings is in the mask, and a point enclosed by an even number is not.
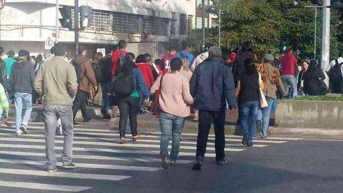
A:
[[[280,75],[282,83],[284,84],[286,94],[289,92],[289,86],[292,88],[292,98],[298,95],[297,80],[298,66],[297,58],[293,55],[292,47],[281,58],[282,68]]]

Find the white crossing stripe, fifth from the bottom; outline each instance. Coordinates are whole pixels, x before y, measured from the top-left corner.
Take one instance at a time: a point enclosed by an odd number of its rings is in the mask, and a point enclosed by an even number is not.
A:
[[[28,148],[28,149],[45,149],[43,145],[18,145],[18,144],[0,144],[0,147],[7,148]],[[62,150],[63,147],[57,146],[55,150]],[[229,149],[229,148],[228,148]],[[232,148],[230,151],[239,152],[245,149]],[[150,150],[121,150],[121,149],[101,149],[101,148],[84,148],[84,147],[73,147],[73,151],[93,151],[93,152],[110,152],[110,153],[129,153],[129,154],[150,154],[159,155],[160,151],[150,151]],[[179,152],[180,156],[194,156],[193,152]],[[206,157],[215,157],[215,153],[206,153]]]

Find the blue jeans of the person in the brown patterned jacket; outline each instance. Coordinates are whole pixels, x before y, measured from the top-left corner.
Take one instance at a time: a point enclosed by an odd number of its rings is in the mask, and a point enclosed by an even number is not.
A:
[[[268,136],[268,126],[269,126],[269,115],[271,111],[271,106],[273,105],[274,99],[266,97],[268,107],[265,108],[259,108],[257,120],[261,121],[262,123],[262,129],[260,132],[261,137],[267,137]]]

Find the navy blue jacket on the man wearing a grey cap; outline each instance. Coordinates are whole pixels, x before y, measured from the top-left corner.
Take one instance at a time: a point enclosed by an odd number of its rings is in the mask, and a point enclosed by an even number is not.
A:
[[[235,83],[231,68],[218,57],[209,57],[194,71],[190,81],[195,108],[209,111],[236,108]]]

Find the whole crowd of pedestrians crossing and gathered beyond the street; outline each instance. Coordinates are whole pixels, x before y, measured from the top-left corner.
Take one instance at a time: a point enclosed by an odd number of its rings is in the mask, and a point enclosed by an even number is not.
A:
[[[220,47],[208,43],[197,57],[192,54],[192,44],[183,41],[181,46],[181,51],[171,46],[163,58],[153,60],[149,53],[136,57],[121,40],[117,46],[106,47],[105,56],[96,53],[92,62],[86,58],[83,46],[70,62],[66,59],[66,46],[60,43],[44,53],[44,60],[42,55],[35,57],[26,50],[20,50],[17,58],[9,51],[2,60],[4,49],[0,47],[0,125],[11,126],[7,118],[13,100],[16,135],[25,135],[33,104],[43,104],[47,171],[57,171],[55,135],[64,135],[63,167],[74,168],[76,114],[81,110],[84,122],[90,121],[86,103],[101,92],[103,118],[119,117],[119,144],[128,142],[128,118],[133,142],[141,138],[138,114],[151,113],[159,118],[161,162],[163,168],[168,168],[169,140],[172,138],[170,164],[177,166],[182,129],[186,117],[194,112],[193,121],[199,123],[192,169],[200,170],[212,123],[216,163],[227,163],[224,151],[227,109],[230,115],[238,110],[242,144],[251,147],[254,137],[268,136],[270,112],[277,99],[325,95],[329,90],[317,62],[303,60],[298,65],[292,46],[282,55],[258,54],[251,42],[244,42],[238,53],[223,53]],[[343,52],[326,72],[337,93],[343,90],[342,64]]]

